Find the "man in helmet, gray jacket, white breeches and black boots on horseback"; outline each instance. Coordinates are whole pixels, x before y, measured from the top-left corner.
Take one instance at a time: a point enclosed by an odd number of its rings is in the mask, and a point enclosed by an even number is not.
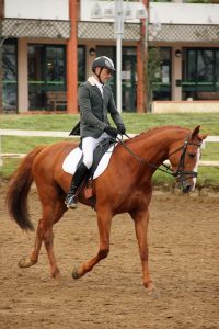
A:
[[[106,137],[116,138],[118,134],[126,133],[120,114],[116,110],[111,87],[105,84],[115,71],[113,60],[106,56],[95,58],[92,64],[92,71],[93,75],[88,81],[79,87],[83,161],[74,172],[70,191],[65,201],[68,208],[77,207],[77,191],[93,163],[93,150],[97,144]],[[110,112],[117,128],[110,125],[107,112]]]

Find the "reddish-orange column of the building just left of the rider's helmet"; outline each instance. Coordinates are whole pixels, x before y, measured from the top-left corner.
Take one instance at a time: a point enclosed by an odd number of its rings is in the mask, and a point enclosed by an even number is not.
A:
[[[78,38],[77,38],[77,0],[69,0],[71,21],[70,38],[67,42],[67,112],[78,113]]]

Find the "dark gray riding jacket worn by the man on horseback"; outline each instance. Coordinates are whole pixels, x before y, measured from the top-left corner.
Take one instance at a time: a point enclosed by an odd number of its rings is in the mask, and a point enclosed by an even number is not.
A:
[[[85,81],[79,87],[80,135],[81,137],[99,138],[110,125],[107,113],[116,125],[123,124],[116,110],[110,86],[104,86],[103,97],[96,84]]]

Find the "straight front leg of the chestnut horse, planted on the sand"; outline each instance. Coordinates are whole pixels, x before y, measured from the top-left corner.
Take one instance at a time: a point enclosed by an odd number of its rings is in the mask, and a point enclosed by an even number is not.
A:
[[[148,263],[148,241],[147,241],[147,230],[148,230],[148,222],[149,222],[149,212],[148,208],[138,209],[130,213],[136,228],[136,237],[138,239],[139,253],[142,264],[142,279],[143,285],[148,290],[153,290],[154,285],[152,283],[149,263]]]

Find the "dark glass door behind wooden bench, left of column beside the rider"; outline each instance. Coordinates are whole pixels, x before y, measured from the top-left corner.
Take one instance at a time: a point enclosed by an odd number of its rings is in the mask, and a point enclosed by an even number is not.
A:
[[[66,110],[66,49],[62,45],[28,45],[28,109]],[[62,92],[62,94],[61,94]]]

